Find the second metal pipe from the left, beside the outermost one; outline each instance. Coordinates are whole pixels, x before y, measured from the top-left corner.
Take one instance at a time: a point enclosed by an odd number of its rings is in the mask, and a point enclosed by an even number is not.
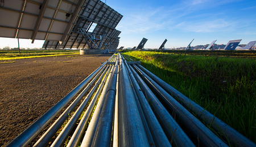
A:
[[[38,141],[36,141],[34,146],[37,146],[37,147],[42,146],[43,147],[48,144],[48,142],[56,134],[58,129],[63,125],[65,120],[68,118],[68,116],[75,109],[76,105],[82,100],[82,97],[84,97],[85,93],[88,92],[88,90],[90,88],[92,88],[93,84],[97,80],[98,76],[100,76],[101,73],[104,71],[105,67],[106,66],[104,66],[104,68],[102,68],[101,71],[98,72],[98,74],[93,78],[93,80],[90,81],[90,83],[86,86],[86,88],[84,90],[82,90],[82,92],[79,94],[79,96],[77,96],[75,101],[73,101],[71,103],[71,105],[69,105],[67,107],[67,109],[59,116],[59,118],[52,124],[52,126],[47,129],[47,131],[44,133],[44,135],[42,137],[40,137],[40,139]],[[87,101],[89,101],[89,98]]]

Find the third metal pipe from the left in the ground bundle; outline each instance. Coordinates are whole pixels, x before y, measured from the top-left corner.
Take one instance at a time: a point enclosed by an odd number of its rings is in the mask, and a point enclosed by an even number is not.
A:
[[[103,70],[103,69],[102,69]],[[89,100],[93,96],[93,93],[98,88],[98,85],[100,85],[100,82],[102,78],[104,77],[106,71],[108,71],[108,67],[105,69],[105,71],[101,74],[101,77],[98,79],[97,83],[94,85],[92,90],[88,93],[88,95],[85,97],[84,101],[82,101],[79,108],[76,110],[75,114],[73,114],[72,118],[68,121],[68,123],[65,125],[61,133],[57,136],[57,138],[54,140],[51,146],[62,146],[67,139],[69,133],[71,133],[73,127],[75,126],[77,120],[79,119],[79,116],[81,115],[82,111],[84,110],[85,106],[88,104]],[[100,73],[99,73],[100,74]],[[95,77],[97,79],[98,76]]]

